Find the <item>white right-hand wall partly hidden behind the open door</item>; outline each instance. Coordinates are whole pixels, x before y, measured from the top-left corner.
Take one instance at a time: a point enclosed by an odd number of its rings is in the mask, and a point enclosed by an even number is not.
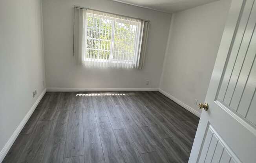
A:
[[[160,89],[197,112],[205,96],[231,0],[173,14]]]

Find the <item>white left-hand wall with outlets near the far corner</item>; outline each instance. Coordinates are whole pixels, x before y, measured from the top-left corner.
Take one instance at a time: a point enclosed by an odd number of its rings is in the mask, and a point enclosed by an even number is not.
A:
[[[44,90],[41,13],[40,0],[0,1],[0,151]]]

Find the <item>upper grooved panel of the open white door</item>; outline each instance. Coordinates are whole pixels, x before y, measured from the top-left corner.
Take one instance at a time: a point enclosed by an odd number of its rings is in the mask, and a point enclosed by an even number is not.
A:
[[[248,0],[241,15],[217,98],[220,103],[251,121],[253,125],[254,120],[248,119],[247,115],[256,87],[255,22],[256,5],[254,0]]]

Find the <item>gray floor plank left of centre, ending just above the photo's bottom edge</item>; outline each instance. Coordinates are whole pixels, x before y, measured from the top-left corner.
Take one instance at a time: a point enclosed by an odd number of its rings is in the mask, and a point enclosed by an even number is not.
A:
[[[64,158],[84,154],[82,103],[71,103]]]

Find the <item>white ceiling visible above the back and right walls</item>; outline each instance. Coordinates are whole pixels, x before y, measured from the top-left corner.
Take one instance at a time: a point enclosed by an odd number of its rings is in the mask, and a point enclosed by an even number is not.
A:
[[[166,13],[175,13],[217,0],[113,0]]]

